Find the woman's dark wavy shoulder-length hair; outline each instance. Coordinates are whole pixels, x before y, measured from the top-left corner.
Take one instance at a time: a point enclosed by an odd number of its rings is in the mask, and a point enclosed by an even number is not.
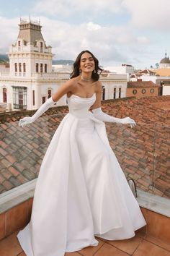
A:
[[[99,61],[98,59],[93,55],[91,54],[90,51],[86,50],[86,51],[81,51],[81,53],[76,57],[76,61],[74,62],[73,64],[73,72],[71,73],[71,78],[73,77],[78,77],[79,74],[80,74],[80,61],[81,61],[81,56],[85,53],[88,53],[90,54],[93,59],[94,59],[94,64],[95,64],[95,68],[92,72],[92,75],[91,75],[91,78],[95,81],[99,80],[99,70],[100,70],[100,73],[102,73],[102,69],[99,67]]]

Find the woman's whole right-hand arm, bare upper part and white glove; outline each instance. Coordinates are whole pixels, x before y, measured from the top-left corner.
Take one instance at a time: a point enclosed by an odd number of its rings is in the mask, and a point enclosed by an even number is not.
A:
[[[94,117],[96,117],[101,121],[108,121],[111,123],[130,124],[131,128],[136,125],[135,121],[130,117],[125,117],[123,119],[120,119],[120,118],[105,114],[101,108],[101,98],[102,98],[102,83],[99,82],[97,85],[97,100],[95,101],[94,105],[91,106]]]

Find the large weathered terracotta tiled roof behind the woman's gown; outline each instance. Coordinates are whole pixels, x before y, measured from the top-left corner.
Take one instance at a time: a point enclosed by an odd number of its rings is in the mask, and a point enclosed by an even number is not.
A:
[[[135,179],[140,189],[170,198],[170,96],[108,100],[102,108],[112,116],[130,116],[137,123],[133,129],[107,123],[110,145],[127,178]],[[51,137],[65,115],[55,114],[58,108],[49,111],[53,115],[47,112],[24,129],[14,118],[0,125],[0,192],[38,176]]]

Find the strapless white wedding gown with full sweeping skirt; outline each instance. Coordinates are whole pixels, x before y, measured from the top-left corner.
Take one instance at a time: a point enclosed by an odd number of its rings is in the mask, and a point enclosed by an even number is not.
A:
[[[30,223],[17,235],[27,256],[63,256],[128,239],[146,225],[105,125],[89,111],[96,95],[68,98],[37,179]]]

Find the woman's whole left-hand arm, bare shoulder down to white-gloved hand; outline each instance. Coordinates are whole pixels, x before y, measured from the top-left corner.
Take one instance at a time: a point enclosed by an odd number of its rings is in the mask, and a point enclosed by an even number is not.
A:
[[[45,113],[45,111],[47,111],[48,108],[53,106],[53,104],[56,101],[58,101],[61,97],[63,97],[63,95],[65,95],[68,92],[71,92],[72,88],[73,88],[73,82],[72,80],[68,80],[65,84],[61,85],[61,87],[58,89],[56,93],[54,93],[52,97],[48,98],[48,100],[45,101],[45,103],[43,103],[42,106],[40,106],[40,108],[38,108],[38,110],[35,112],[33,116],[26,116],[23,119],[20,119],[19,126],[24,127],[27,124],[33,123],[39,116]]]

